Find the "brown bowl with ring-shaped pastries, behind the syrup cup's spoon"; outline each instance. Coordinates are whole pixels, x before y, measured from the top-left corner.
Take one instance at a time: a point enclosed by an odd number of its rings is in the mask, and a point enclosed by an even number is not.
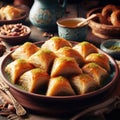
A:
[[[120,38],[120,6],[108,4],[102,8],[94,8],[87,13],[87,17],[97,14],[90,20],[92,33],[102,39]]]

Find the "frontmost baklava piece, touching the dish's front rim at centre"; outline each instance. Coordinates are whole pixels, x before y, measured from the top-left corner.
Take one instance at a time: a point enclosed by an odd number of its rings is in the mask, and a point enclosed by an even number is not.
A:
[[[51,78],[48,84],[47,96],[68,96],[75,95],[69,80],[63,76]]]

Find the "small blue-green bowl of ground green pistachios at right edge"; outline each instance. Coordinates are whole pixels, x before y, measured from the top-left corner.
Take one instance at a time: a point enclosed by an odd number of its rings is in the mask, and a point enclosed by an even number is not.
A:
[[[100,48],[114,59],[120,60],[120,39],[106,40],[101,43]]]

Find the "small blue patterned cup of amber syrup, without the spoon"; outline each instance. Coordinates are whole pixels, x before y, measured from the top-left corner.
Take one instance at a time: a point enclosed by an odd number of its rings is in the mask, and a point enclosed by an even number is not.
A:
[[[64,18],[57,21],[58,35],[66,40],[84,41],[87,35],[87,23],[81,27],[76,26],[84,18]]]

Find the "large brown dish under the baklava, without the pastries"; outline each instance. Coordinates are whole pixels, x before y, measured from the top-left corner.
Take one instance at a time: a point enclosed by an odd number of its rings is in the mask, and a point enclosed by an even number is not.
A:
[[[39,42],[37,45],[40,46],[42,43]],[[99,51],[104,53],[101,50]],[[112,57],[104,53],[109,58],[111,72],[109,76],[110,81],[100,89],[84,95],[74,96],[45,96],[41,94],[29,93],[20,89],[16,85],[13,85],[9,80],[8,74],[5,72],[6,65],[11,62],[11,53],[12,52],[8,53],[1,61],[1,78],[10,86],[11,93],[21,105],[23,105],[27,110],[43,115],[65,117],[68,115],[73,115],[88,106],[95,105],[96,103],[106,99],[106,97],[111,94],[111,91],[113,91],[119,77],[117,63]]]

